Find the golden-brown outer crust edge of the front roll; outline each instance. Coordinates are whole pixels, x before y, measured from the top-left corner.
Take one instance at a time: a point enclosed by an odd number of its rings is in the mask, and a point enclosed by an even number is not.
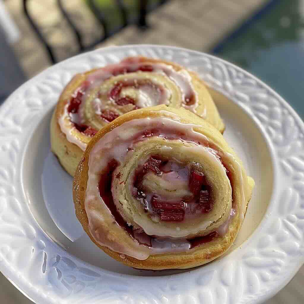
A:
[[[160,112],[162,111],[162,112]],[[168,112],[164,112],[168,111]],[[107,247],[100,246],[92,237],[89,229],[88,229],[88,217],[85,211],[85,192],[87,187],[88,181],[88,159],[92,148],[94,147],[95,143],[104,136],[106,133],[111,131],[113,128],[120,126],[126,121],[132,119],[139,119],[143,117],[158,117],[158,116],[168,116],[172,117],[174,114],[177,114],[181,117],[181,122],[184,123],[195,123],[199,124],[201,122],[201,118],[195,116],[195,114],[186,111],[185,109],[172,109],[168,108],[165,105],[159,105],[153,108],[146,108],[146,109],[138,109],[123,116],[120,116],[115,121],[110,123],[109,125],[105,126],[102,130],[100,130],[90,141],[88,144],[85,153],[79,163],[78,169],[76,171],[73,183],[73,199],[75,205],[75,212],[78,220],[80,221],[81,225],[83,226],[85,232],[91,238],[91,240],[101,248],[106,254],[115,258],[117,261],[120,261],[128,266],[140,269],[153,269],[153,270],[160,270],[160,269],[187,269],[193,268],[202,264],[209,263],[210,261],[216,259],[217,257],[221,256],[226,250],[229,249],[233,240],[235,239],[240,226],[241,222],[236,221],[235,225],[230,225],[228,232],[224,237],[216,238],[206,244],[196,247],[188,252],[184,253],[168,253],[168,254],[157,254],[157,255],[150,255],[146,260],[137,260],[133,257],[126,256],[126,258],[122,258],[121,255],[117,252],[110,250]],[[199,124],[200,125],[200,124]],[[204,124],[205,127],[210,127],[208,123]],[[211,127],[205,129],[204,126],[200,128],[201,132],[206,132],[207,137],[213,140],[215,143],[217,142],[216,138],[219,136],[218,130]],[[234,154],[231,148],[228,146],[226,147],[227,151]],[[250,184],[250,193],[248,196],[248,201],[251,197],[251,190],[254,185],[254,181],[250,178],[248,180]]]

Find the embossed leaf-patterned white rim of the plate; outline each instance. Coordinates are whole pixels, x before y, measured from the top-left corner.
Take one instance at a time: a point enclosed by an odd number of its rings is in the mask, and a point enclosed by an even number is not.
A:
[[[116,274],[85,263],[41,230],[21,168],[30,134],[73,74],[133,55],[160,57],[197,71],[263,130],[274,162],[266,215],[229,259],[170,276]],[[0,270],[38,303],[261,303],[304,262],[304,124],[261,81],[210,55],[162,46],[111,47],[81,54],[26,82],[0,108]]]

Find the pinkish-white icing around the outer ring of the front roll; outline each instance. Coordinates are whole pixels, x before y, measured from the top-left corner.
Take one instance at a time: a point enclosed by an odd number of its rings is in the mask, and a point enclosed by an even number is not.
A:
[[[139,260],[146,259],[150,254],[185,252],[187,250],[191,250],[190,243],[187,240],[182,237],[178,239],[168,239],[168,237],[166,238],[166,233],[164,233],[162,237],[160,237],[158,234],[157,237],[152,237],[151,246],[149,247],[140,244],[140,240],[133,240],[130,235],[115,222],[110,210],[106,207],[105,203],[99,196],[99,173],[103,168],[106,168],[109,157],[114,158],[119,161],[120,164],[123,164],[124,158],[128,153],[127,148],[132,145],[132,142],[136,139],[138,132],[140,130],[146,130],[147,128],[151,127],[152,123],[156,122],[158,122],[159,125],[166,126],[165,129],[173,130],[179,129],[182,125],[186,136],[191,138],[192,142],[208,141],[206,136],[193,131],[195,125],[192,124],[182,124],[177,120],[167,117],[134,119],[132,121],[123,123],[122,125],[113,129],[111,132],[105,134],[105,136],[103,136],[93,147],[88,161],[89,171],[85,198],[85,210],[89,221],[88,227],[92,236],[96,242],[98,242],[98,244],[106,246],[120,254],[135,257]],[[164,147],[164,149],[165,148],[167,149],[170,147]],[[199,148],[199,145],[197,148]],[[223,157],[228,159],[233,156],[224,153]],[[231,161],[234,161],[234,164],[239,167],[239,170],[236,169],[236,174],[240,179],[240,182],[242,182],[242,171],[240,164],[236,162],[234,157],[231,159]],[[240,204],[242,209],[245,208],[245,194],[243,185],[240,184],[241,193],[243,193],[241,194],[243,201]],[[244,215],[244,210],[240,211],[240,213]],[[218,227],[217,232],[220,235],[224,235],[226,233],[229,223],[233,218],[234,212],[234,209],[231,210],[230,216],[226,223],[223,223],[222,226]],[[143,227],[143,229],[146,231],[146,227]],[[181,229],[179,229],[178,226],[175,230],[177,232],[181,232]]]

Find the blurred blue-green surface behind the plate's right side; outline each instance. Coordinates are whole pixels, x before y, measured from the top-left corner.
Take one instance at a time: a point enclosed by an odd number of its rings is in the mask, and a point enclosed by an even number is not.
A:
[[[272,4],[213,52],[270,85],[304,119],[304,0]]]

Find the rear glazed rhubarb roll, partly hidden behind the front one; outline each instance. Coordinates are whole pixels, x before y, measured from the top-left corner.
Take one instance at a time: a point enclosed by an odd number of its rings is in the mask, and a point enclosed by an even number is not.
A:
[[[102,127],[134,109],[165,104],[184,107],[220,132],[224,124],[203,81],[192,71],[162,60],[126,58],[77,74],[62,92],[51,122],[51,146],[68,173]]]

